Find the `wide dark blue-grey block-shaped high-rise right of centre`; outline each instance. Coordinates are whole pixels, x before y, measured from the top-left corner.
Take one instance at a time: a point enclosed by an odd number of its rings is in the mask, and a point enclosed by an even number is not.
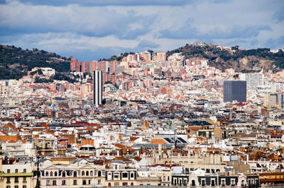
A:
[[[246,102],[246,81],[224,81],[224,102]]]

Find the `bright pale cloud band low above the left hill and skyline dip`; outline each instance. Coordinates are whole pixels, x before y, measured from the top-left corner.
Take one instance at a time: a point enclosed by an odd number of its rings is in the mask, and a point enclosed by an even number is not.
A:
[[[4,45],[15,45],[23,49],[44,49],[56,52],[65,57],[76,57],[80,60],[107,59],[124,52],[138,52],[154,49],[159,45],[148,40],[121,40],[114,36],[88,37],[77,33],[40,33],[15,36],[0,36]]]

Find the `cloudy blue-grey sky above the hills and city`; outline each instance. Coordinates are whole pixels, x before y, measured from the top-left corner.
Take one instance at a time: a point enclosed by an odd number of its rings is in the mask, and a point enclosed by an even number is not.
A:
[[[79,61],[205,42],[284,47],[284,1],[0,0],[0,44]]]

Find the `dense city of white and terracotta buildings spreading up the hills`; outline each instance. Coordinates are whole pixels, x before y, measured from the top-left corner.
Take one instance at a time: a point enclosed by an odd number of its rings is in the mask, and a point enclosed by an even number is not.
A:
[[[284,186],[283,70],[118,57],[0,80],[0,187]]]

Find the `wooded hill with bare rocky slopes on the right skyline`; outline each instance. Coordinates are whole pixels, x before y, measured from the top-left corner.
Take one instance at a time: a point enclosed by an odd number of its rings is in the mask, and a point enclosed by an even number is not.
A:
[[[168,52],[168,55],[181,52],[186,59],[196,57],[209,60],[209,66],[217,69],[235,69],[240,72],[261,71],[273,72],[284,69],[284,52],[270,52],[268,48],[242,50],[237,46],[234,50],[221,49],[215,45],[185,45]]]

